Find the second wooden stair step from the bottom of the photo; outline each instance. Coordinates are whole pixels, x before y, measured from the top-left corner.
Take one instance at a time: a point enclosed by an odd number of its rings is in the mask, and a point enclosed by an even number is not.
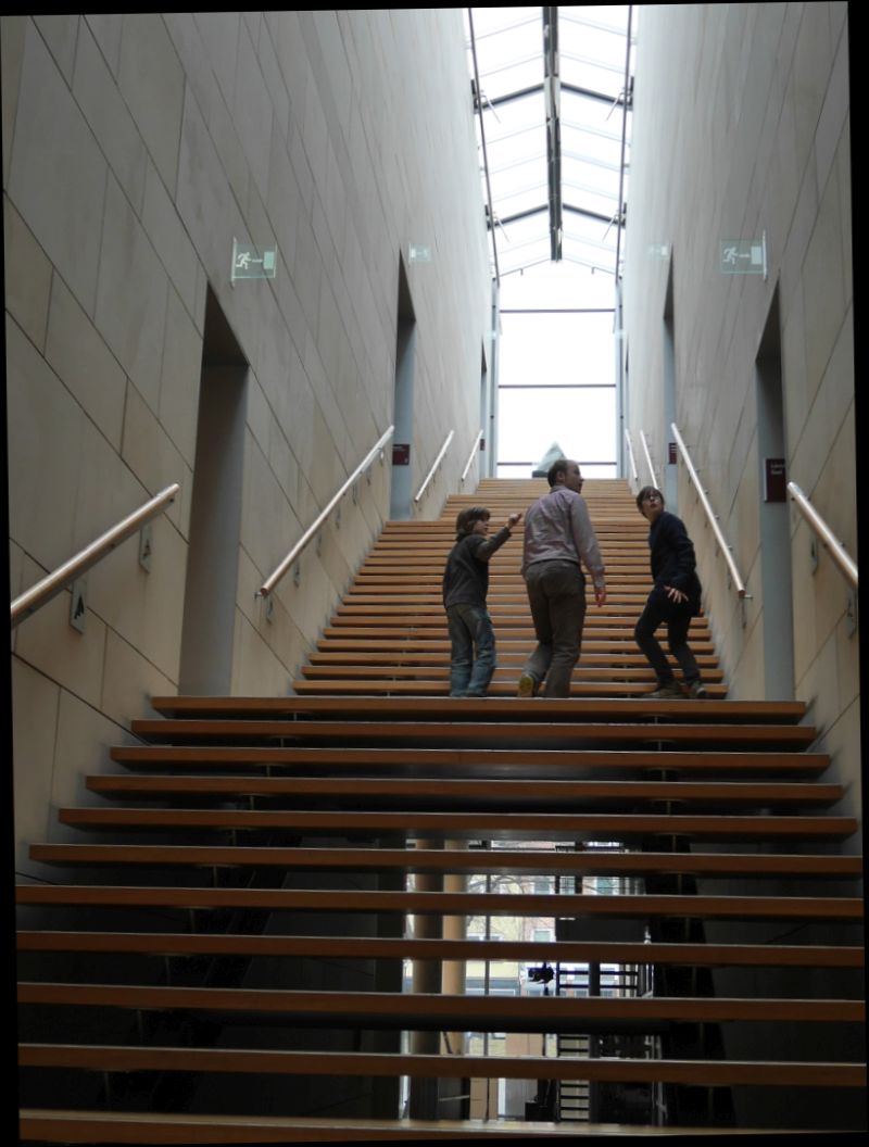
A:
[[[243,1074],[487,1078],[493,1061],[479,1055],[397,1055],[352,1052],[265,1052],[195,1047],[19,1044],[23,1067],[93,1071],[233,1071]],[[502,1079],[600,1079],[619,1083],[683,1083],[695,1086],[862,1087],[863,1063],[798,1063],[721,1060],[567,1059],[499,1056]]]

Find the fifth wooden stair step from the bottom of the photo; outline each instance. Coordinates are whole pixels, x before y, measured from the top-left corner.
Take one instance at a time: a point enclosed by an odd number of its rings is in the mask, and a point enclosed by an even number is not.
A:
[[[55,845],[57,848],[60,845]],[[500,892],[498,914],[517,916],[683,916],[686,919],[862,920],[859,897],[816,896],[574,896]],[[141,885],[22,884],[21,905],[149,905],[211,911],[350,913],[493,913],[492,896],[478,892],[299,891],[258,888],[158,888]]]

